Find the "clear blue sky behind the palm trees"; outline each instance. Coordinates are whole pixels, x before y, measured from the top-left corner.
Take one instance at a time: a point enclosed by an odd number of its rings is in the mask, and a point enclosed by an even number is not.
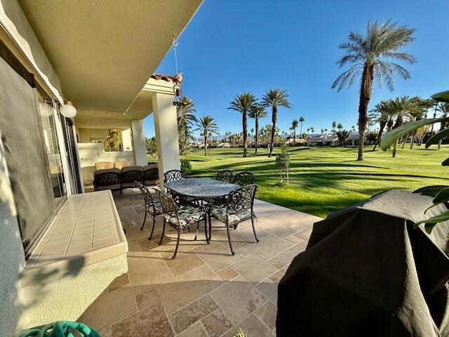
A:
[[[241,114],[227,110],[236,94],[260,97],[271,88],[290,94],[292,109],[279,112],[278,125],[287,131],[304,117],[304,129],[345,128],[356,124],[358,85],[340,92],[330,89],[343,71],[335,65],[338,45],[349,32],[366,31],[368,20],[391,19],[415,28],[406,48],[417,59],[406,65],[411,79],[396,79],[394,92],[375,86],[370,107],[396,95],[428,97],[449,89],[449,1],[269,1],[206,0],[179,39],[178,67],[183,94],[196,104],[196,116],[215,117],[220,133],[241,132]],[[156,72],[175,74],[173,50]],[[271,114],[260,125],[271,122]],[[253,119],[248,128],[253,127]],[[153,115],[145,133],[154,136]]]

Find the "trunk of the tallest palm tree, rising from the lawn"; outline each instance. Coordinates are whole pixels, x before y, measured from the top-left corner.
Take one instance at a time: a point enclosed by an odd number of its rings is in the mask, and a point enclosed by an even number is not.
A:
[[[373,92],[373,66],[363,67],[360,101],[358,103],[358,154],[357,160],[363,160],[363,145],[365,143],[365,129],[368,121],[368,104]]]

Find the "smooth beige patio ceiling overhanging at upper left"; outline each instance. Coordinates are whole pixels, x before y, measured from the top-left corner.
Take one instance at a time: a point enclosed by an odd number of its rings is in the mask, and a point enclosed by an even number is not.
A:
[[[123,113],[202,0],[19,2],[65,97],[79,110]]]

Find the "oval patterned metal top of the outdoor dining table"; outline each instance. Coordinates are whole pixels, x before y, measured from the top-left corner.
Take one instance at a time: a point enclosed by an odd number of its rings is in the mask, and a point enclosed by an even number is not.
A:
[[[226,197],[240,186],[210,178],[183,178],[163,184],[168,190],[194,199],[211,199]]]

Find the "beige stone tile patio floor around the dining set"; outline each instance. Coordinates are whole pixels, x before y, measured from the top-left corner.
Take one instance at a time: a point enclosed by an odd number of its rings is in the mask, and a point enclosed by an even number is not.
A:
[[[275,336],[277,284],[295,256],[304,251],[316,216],[265,201],[255,201],[259,243],[250,221],[232,231],[236,255],[227,234],[213,229],[206,244],[203,230],[181,235],[171,260],[176,233],[168,227],[163,244],[161,219],[148,240],[152,219],[144,216],[138,190],[114,192],[128,239],[128,272],[117,277],[79,321],[102,337],[234,336],[239,328],[250,337]],[[221,225],[216,220],[213,225]]]

